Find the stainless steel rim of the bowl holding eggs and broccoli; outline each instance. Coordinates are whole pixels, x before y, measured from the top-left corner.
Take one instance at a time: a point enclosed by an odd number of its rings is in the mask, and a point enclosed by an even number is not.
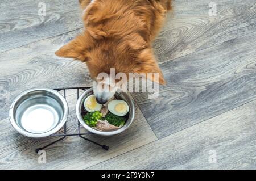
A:
[[[115,131],[98,131],[96,129],[93,129],[91,127],[89,127],[89,125],[87,125],[84,121],[84,119],[82,118],[82,113],[84,112],[84,101],[85,99],[89,96],[93,94],[93,89],[89,89],[87,91],[84,92],[84,94],[82,94],[79,98],[79,100],[77,101],[76,104],[76,115],[77,118],[79,119],[80,124],[87,129],[89,132],[91,133],[95,133],[101,136],[112,136],[115,134],[119,134],[123,131],[125,131],[133,122],[134,120],[134,116],[135,116],[135,107],[134,107],[134,102],[133,99],[130,98],[130,96],[124,92],[121,93],[116,93],[115,94],[115,98],[117,99],[122,99],[125,100],[125,102],[127,102],[127,104],[129,105],[130,111],[129,114],[127,115],[127,121],[125,123],[125,125],[123,125],[123,127],[115,130]]]

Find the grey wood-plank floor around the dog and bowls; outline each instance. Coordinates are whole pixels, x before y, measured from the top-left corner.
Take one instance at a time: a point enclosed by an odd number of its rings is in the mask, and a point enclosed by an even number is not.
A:
[[[113,137],[89,136],[99,149],[68,137],[33,140],[10,125],[11,101],[31,87],[91,85],[79,61],[54,52],[82,31],[78,1],[0,3],[0,169],[256,169],[256,2],[176,0],[154,43],[166,77],[159,98],[131,94],[135,121]],[[209,3],[217,15],[209,16]],[[19,11],[17,11],[17,9]],[[68,91],[69,133],[76,131],[76,94]]]

